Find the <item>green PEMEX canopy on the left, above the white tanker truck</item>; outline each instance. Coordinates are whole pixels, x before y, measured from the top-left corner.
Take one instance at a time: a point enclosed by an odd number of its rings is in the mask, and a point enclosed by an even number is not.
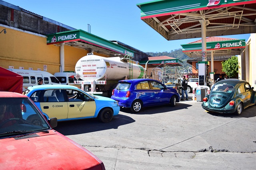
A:
[[[110,56],[123,57],[124,55],[130,55],[134,57],[134,51],[83,30],[72,30],[47,35],[47,45],[62,45],[62,43]]]

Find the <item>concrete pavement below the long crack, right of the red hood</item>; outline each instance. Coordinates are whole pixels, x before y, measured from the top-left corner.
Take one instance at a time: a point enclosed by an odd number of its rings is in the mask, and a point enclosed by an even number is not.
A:
[[[126,148],[88,148],[106,170],[255,170],[256,153],[159,152]]]

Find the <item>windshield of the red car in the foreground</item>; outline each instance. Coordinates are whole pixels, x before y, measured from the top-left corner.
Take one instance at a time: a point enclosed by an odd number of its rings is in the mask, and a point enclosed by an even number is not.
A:
[[[49,129],[51,127],[28,98],[0,98],[0,138]]]

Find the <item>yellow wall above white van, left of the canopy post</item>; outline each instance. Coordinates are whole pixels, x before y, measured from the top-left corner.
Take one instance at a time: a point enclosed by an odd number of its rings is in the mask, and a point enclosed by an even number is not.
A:
[[[0,27],[0,29],[4,29]],[[6,29],[6,34],[0,34],[0,66],[14,69],[24,67],[33,70],[44,70],[55,73],[60,70],[60,47],[46,45],[46,36],[28,34],[23,31]]]

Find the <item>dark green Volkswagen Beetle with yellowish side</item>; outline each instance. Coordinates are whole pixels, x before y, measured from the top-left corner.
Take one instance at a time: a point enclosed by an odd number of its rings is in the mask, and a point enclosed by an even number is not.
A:
[[[206,111],[217,113],[234,113],[256,104],[254,87],[244,80],[224,79],[216,83],[203,99],[202,107]]]

